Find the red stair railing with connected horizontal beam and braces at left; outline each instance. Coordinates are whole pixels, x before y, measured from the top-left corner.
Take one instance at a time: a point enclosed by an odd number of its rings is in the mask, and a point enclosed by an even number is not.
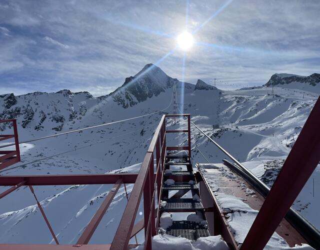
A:
[[[188,133],[188,145],[187,146],[171,146],[167,147],[165,119],[166,117],[185,116],[188,119],[187,130],[169,130],[172,132],[187,132]],[[16,122],[13,121],[15,127],[14,137],[16,138],[16,145],[18,145]],[[157,206],[160,204],[161,197],[161,185],[163,182],[163,173],[165,170],[164,159],[166,150],[188,150],[189,156],[191,155],[190,146],[190,115],[189,114],[175,114],[175,115],[163,115],[151,140],[150,146],[145,154],[144,160],[140,167],[139,173],[117,173],[117,174],[69,174],[69,175],[21,175],[21,176],[0,176],[0,185],[12,185],[6,191],[0,193],[0,198],[9,194],[13,190],[16,190],[22,185],[28,185],[33,193],[39,209],[47,223],[47,226],[55,239],[57,245],[41,245],[41,244],[0,244],[0,249],[75,249],[74,247],[81,247],[81,249],[128,249],[134,245],[129,245],[129,239],[137,232],[144,228],[145,243],[144,249],[151,249],[151,237],[156,234],[159,220],[159,210],[155,209],[155,202]],[[16,147],[18,151],[18,146]],[[19,153],[18,153],[19,155]],[[155,157],[155,162],[154,162]],[[154,172],[155,164],[155,172]],[[55,238],[53,229],[47,220],[45,213],[38,202],[32,185],[72,185],[72,184],[111,184],[114,186],[107,194],[104,201],[96,211],[95,215],[89,221],[86,229],[82,232],[77,243],[75,245],[58,245],[58,241]],[[117,190],[122,183],[134,183],[127,205],[124,209],[122,218],[118,225],[117,231],[113,238],[112,244],[95,245],[87,244],[94,233],[97,225],[102,219],[105,211],[115,196]],[[143,193],[143,207],[144,207],[144,219],[134,224],[137,209]],[[157,200],[155,200],[157,197]]]

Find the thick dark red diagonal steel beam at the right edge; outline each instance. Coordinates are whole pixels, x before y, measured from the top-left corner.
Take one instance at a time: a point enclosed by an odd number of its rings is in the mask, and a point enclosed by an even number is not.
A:
[[[320,161],[320,98],[316,101],[241,250],[263,249]]]

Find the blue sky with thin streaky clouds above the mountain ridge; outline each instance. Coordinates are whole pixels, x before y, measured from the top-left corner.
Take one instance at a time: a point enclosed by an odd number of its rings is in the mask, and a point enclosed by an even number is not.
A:
[[[309,75],[320,71],[319,13],[318,0],[0,0],[0,94],[98,96],[147,63],[223,89]],[[185,29],[196,44],[182,69],[184,52],[170,51]]]

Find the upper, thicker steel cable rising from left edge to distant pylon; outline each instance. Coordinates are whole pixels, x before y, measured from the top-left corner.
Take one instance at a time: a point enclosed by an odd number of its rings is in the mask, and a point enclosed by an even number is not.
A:
[[[162,111],[164,111],[165,109],[169,108],[170,105],[171,105],[171,102],[172,102],[172,95],[171,95],[170,103],[169,103],[169,105],[168,105],[167,107],[165,107],[165,108],[163,108],[163,109],[161,109],[161,110],[152,112],[152,113],[147,113],[147,114],[143,114],[143,115],[139,115],[139,116],[134,116],[134,117],[127,118],[127,119],[111,121],[111,122],[107,122],[107,123],[103,123],[103,124],[99,124],[99,125],[95,125],[95,126],[84,127],[84,128],[80,128],[80,129],[75,129],[75,130],[71,130],[71,131],[62,132],[62,133],[51,134],[51,135],[47,135],[47,136],[43,136],[43,137],[39,137],[39,138],[34,138],[34,139],[29,139],[29,140],[23,140],[23,141],[20,141],[19,144],[26,143],[26,142],[31,142],[31,141],[35,141],[35,140],[40,140],[40,139],[46,139],[46,138],[50,138],[50,137],[55,137],[55,136],[59,136],[59,135],[63,135],[63,134],[79,132],[79,131],[83,131],[83,130],[86,130],[86,129],[92,129],[92,128],[96,128],[96,127],[100,127],[100,126],[111,125],[111,124],[115,124],[115,123],[119,123],[119,122],[123,122],[123,121],[127,121],[127,120],[133,120],[133,119],[141,118],[141,117],[144,117],[144,116],[149,116],[149,115],[151,115],[151,114],[159,113],[159,112],[162,112]],[[15,145],[15,143],[10,143],[10,144],[1,145],[0,148],[2,148],[2,147],[7,147],[7,146],[13,146],[13,145]]]

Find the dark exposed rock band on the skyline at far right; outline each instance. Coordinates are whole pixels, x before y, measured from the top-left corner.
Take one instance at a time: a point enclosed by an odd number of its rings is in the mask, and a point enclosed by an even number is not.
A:
[[[264,86],[271,86],[271,85],[278,85],[278,84],[288,84],[293,82],[301,82],[301,83],[308,83],[309,85],[315,86],[320,82],[320,74],[313,73],[309,76],[301,76],[295,74],[273,74],[271,78],[268,80]]]

